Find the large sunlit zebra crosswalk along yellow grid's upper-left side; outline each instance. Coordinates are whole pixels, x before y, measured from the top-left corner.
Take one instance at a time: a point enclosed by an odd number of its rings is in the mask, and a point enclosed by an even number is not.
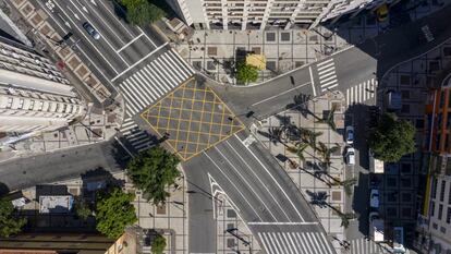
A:
[[[194,70],[172,49],[124,80],[126,116],[132,117],[185,82]]]

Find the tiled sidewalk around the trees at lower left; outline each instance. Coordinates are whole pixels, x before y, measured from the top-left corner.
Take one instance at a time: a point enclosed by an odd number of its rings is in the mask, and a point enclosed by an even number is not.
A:
[[[84,188],[88,183],[99,185],[101,181],[115,180],[124,181],[123,190],[135,193],[135,206],[138,225],[145,231],[153,230],[161,233],[167,240],[167,250],[164,253],[186,254],[188,251],[188,227],[187,227],[187,194],[186,185],[182,178],[176,180],[176,188],[167,190],[171,196],[163,206],[155,206],[143,198],[141,191],[134,189],[131,181],[123,172],[110,174],[107,171],[88,171],[81,178],[59,181],[52,183],[42,183],[37,188],[23,190],[24,196],[32,202],[21,209],[21,214],[28,218],[28,226],[42,231],[54,231],[54,228],[61,230],[66,228],[77,232],[96,232],[94,218],[82,220],[75,217],[74,213],[69,214],[39,214],[39,203],[36,202],[37,194],[47,195],[83,195],[84,198],[95,198],[95,192],[88,192]],[[151,254],[148,241],[144,241],[143,254]],[[141,253],[141,252],[138,252]]]

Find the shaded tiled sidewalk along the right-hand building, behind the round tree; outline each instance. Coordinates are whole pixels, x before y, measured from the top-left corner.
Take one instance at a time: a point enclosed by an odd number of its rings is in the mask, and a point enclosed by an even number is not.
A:
[[[397,114],[410,120],[417,129],[417,147],[423,147],[425,128],[425,101],[434,77],[451,64],[451,40],[419,56],[412,61],[394,68],[379,83],[378,104],[383,102],[383,92],[398,90],[402,96],[402,109]],[[388,225],[404,227],[405,242],[413,241],[417,219],[418,174],[422,170],[419,152],[404,156],[399,162],[386,166],[379,190],[381,195],[380,211]]]

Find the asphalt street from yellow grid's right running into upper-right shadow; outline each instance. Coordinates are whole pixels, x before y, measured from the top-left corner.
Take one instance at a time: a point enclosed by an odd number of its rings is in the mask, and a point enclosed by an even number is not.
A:
[[[263,85],[249,87],[214,86],[219,96],[232,108],[237,116],[254,111],[258,119],[284,110],[293,104],[295,95],[318,96],[328,90],[327,80],[330,76],[321,74],[321,66],[333,62],[337,86],[330,90],[343,94],[348,88],[358,83],[383,74],[395,64],[409,60],[422,52],[432,49],[451,37],[451,5],[412,23],[399,26],[376,38],[370,38],[348,50],[337,52],[317,63],[313,63],[292,72],[285,73]],[[422,32],[427,25],[435,40],[428,43]],[[340,32],[339,32],[340,34]],[[322,65],[320,65],[324,62]],[[333,74],[333,73],[331,73]],[[378,90],[379,92],[379,90]]]

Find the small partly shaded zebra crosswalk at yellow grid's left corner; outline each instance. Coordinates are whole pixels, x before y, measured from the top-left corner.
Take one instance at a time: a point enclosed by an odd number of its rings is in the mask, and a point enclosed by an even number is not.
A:
[[[155,143],[150,135],[146,131],[141,130],[131,118],[124,120],[119,131],[136,152],[147,149]]]

